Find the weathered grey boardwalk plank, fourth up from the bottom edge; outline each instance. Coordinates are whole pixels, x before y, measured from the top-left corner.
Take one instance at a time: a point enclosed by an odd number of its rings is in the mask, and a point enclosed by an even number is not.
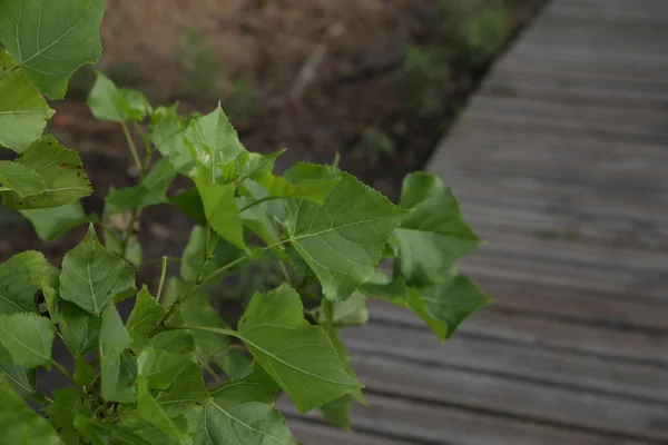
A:
[[[348,352],[361,357],[389,357],[419,366],[449,367],[461,374],[472,373],[531,382],[554,388],[608,394],[668,406],[668,370],[642,364],[611,362],[581,354],[455,335],[441,345],[426,328],[397,328],[371,324],[342,332]],[[392,338],[392,342],[387,342]],[[394,365],[389,365],[390,367]],[[411,382],[416,379],[412,374]],[[375,378],[375,377],[374,377]],[[366,384],[366,379],[363,378]],[[470,386],[464,384],[464,387]],[[436,385],[436,388],[441,385]],[[434,388],[434,390],[440,390]],[[412,390],[406,385],[405,390]],[[518,402],[523,398],[518,397]],[[570,405],[569,405],[570,406]]]

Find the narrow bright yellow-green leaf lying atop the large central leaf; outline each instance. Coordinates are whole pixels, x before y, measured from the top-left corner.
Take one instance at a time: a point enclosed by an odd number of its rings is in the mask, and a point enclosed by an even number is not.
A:
[[[265,171],[263,175],[257,175],[256,181],[272,197],[305,199],[322,206],[342,179],[340,177],[332,179],[302,179],[299,176],[293,177],[297,179],[297,182],[293,184],[281,176]]]

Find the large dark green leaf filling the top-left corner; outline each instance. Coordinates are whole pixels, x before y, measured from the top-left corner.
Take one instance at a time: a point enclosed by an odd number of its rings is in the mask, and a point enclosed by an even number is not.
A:
[[[100,57],[104,0],[4,0],[0,40],[50,99],[62,99],[70,76]]]

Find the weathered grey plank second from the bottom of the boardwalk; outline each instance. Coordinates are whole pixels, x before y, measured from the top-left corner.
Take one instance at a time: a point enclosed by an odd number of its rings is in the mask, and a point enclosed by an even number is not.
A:
[[[590,432],[569,431],[550,425],[519,422],[514,418],[475,413],[446,406],[369,394],[369,406],[353,407],[353,429],[393,439],[425,445],[649,445]],[[292,417],[289,402],[278,402],[282,412]],[[307,415],[317,418],[316,413]]]

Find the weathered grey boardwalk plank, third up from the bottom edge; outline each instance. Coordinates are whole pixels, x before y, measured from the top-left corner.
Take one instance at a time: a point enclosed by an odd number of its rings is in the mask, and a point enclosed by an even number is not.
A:
[[[632,435],[645,441],[668,441],[668,429],[660,428],[668,425],[668,404],[657,406],[371,355],[355,356],[353,366],[372,392],[466,406],[537,423]]]

